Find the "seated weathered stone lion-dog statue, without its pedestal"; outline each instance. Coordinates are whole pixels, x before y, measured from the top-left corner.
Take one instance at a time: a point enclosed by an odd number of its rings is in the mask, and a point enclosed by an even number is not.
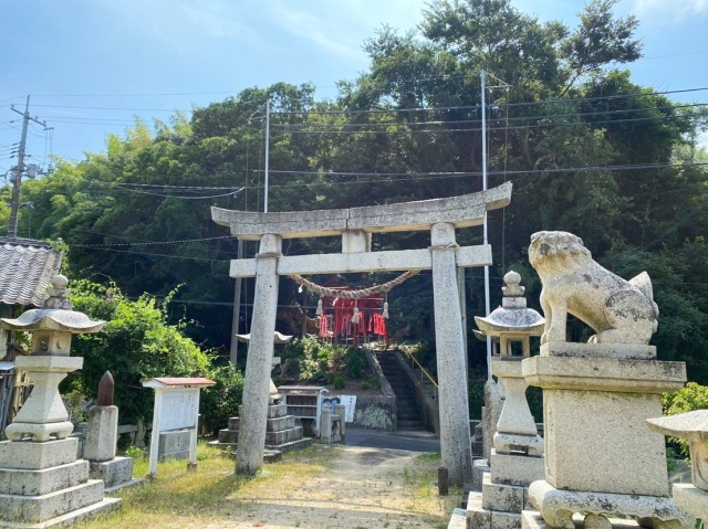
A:
[[[572,314],[592,327],[594,343],[647,345],[659,310],[646,272],[625,281],[593,261],[583,240],[568,232],[531,235],[529,261],[541,277],[545,328],[541,343],[566,341]]]

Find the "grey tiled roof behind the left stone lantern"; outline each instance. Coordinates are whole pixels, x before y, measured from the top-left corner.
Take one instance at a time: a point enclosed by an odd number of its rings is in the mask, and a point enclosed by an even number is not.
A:
[[[0,303],[41,306],[62,256],[42,241],[0,237]]]

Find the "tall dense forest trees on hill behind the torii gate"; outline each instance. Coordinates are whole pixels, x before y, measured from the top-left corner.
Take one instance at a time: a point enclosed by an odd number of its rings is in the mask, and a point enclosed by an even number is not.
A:
[[[62,237],[72,277],[111,279],[129,298],[165,296],[184,285],[169,306],[199,321],[187,330],[197,342],[226,353],[233,293],[228,263],[237,245],[211,221],[209,208],[262,210],[266,99],[273,110],[270,211],[448,197],[482,188],[485,71],[493,86],[486,108],[489,184],[513,182],[511,205],[489,215],[492,307],[501,277],[513,268],[538,308],[529,237],[545,229],[574,232],[620,275],[649,273],[662,311],[653,341],[659,357],[685,360],[689,378],[708,383],[708,283],[700,275],[708,260],[708,171],[701,165],[708,156],[696,147],[708,120],[702,106],[679,105],[618,68],[641,56],[641,43],[636,20],[616,18],[614,3],[590,2],[571,28],[541,23],[509,0],[434,0],[419,32],[383,28],[365,42],[369,68],[342,82],[334,100],[317,100],[311,85],[249,88],[195,109],[190,119],[136,123],[124,137],[110,136],[104,152],[28,181],[22,200],[34,204],[32,235]],[[1,193],[0,203],[9,201],[9,187]],[[0,210],[3,222],[7,211]],[[460,230],[458,242],[479,244],[481,230]],[[373,244],[425,247],[429,235],[375,236]],[[291,255],[330,251],[339,251],[337,241],[287,241],[283,248]],[[251,256],[257,247],[247,243],[244,252]],[[382,276],[341,281],[356,286]],[[316,301],[287,278],[280,290],[281,305],[306,311]],[[250,279],[243,293],[242,331]],[[466,294],[471,337],[471,316],[483,313],[480,271],[467,272]],[[140,299],[147,310],[152,298]],[[431,307],[429,274],[397,287],[393,334],[434,340]],[[280,330],[300,330],[280,316]],[[143,325],[132,330],[142,332]],[[574,321],[571,335],[589,332]],[[139,367],[132,356],[144,350],[143,338],[134,335],[122,347],[126,361]],[[201,360],[194,363],[179,348],[188,348],[179,343],[174,352],[180,369],[201,369]],[[482,349],[470,338],[470,372],[483,372],[476,369],[485,362]]]

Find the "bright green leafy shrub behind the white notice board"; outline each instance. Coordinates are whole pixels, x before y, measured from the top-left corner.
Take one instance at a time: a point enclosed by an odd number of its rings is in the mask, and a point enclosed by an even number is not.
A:
[[[242,378],[233,367],[215,367],[212,358],[184,336],[185,322],[167,322],[167,305],[143,295],[127,299],[112,285],[86,281],[72,285],[74,310],[106,321],[101,332],[79,335],[72,353],[84,358],[83,369],[71,377],[73,387],[88,398],[97,396],[97,382],[111,371],[115,404],[122,424],[145,423],[153,415],[153,390],[140,382],[154,377],[207,377],[217,384],[202,390],[202,415],[208,429],[223,426],[241,402]]]

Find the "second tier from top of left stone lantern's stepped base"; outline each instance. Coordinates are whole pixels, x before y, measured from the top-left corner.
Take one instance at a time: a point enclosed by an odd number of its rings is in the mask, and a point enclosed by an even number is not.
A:
[[[77,461],[41,470],[0,468],[0,494],[41,496],[88,479],[88,462]]]

